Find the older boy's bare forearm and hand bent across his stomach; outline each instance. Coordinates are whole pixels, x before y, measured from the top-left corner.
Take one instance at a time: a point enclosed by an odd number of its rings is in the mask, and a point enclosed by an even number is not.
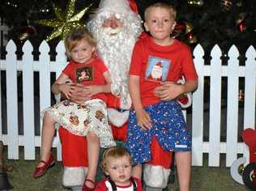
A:
[[[156,87],[154,93],[160,97],[160,100],[173,100],[187,92],[192,92],[198,87],[198,80],[188,80],[184,84],[173,82],[162,83],[160,87]]]

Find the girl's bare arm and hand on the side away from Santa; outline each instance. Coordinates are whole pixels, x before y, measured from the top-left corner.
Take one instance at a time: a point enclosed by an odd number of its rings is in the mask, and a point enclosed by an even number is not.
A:
[[[66,83],[68,79],[67,75],[62,73],[58,77],[58,79],[53,83],[52,91],[53,94],[62,93],[66,96],[67,99],[70,99],[72,93],[75,92],[75,84],[74,83]]]

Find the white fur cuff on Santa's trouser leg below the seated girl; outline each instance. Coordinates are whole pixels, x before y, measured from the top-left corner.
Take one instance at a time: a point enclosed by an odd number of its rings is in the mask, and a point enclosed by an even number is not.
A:
[[[67,188],[83,186],[88,168],[83,167],[64,167],[62,185]]]

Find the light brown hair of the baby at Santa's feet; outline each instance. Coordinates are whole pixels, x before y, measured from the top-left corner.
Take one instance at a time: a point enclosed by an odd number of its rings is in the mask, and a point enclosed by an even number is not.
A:
[[[105,172],[107,171],[107,162],[110,157],[112,157],[113,159],[119,159],[124,156],[127,156],[129,158],[130,165],[132,165],[132,159],[131,159],[130,153],[129,153],[129,151],[126,150],[126,148],[124,148],[122,146],[113,146],[113,147],[109,148],[103,154],[102,163],[101,163],[102,169]]]

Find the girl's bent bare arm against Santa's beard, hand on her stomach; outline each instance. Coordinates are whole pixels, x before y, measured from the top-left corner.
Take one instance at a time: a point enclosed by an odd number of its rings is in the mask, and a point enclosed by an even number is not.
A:
[[[90,85],[90,86],[84,87],[85,92],[87,93],[88,96],[93,96],[98,93],[109,93],[111,91],[111,79],[110,79],[109,71],[105,71],[105,73],[103,73],[103,76],[106,81],[105,85]]]

